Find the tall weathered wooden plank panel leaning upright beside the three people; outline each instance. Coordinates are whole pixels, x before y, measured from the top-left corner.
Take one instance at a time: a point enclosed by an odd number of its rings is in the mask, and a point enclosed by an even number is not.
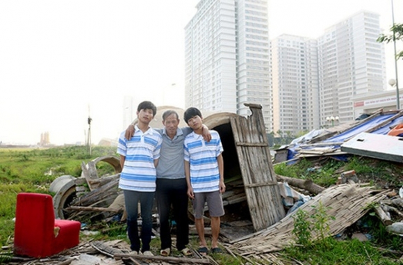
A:
[[[265,132],[261,106],[249,106],[252,115],[230,117],[233,138],[238,153],[242,181],[254,230],[263,230],[277,223],[285,211],[272,166],[268,138]],[[237,144],[242,143],[242,144]],[[265,185],[262,185],[265,184]]]

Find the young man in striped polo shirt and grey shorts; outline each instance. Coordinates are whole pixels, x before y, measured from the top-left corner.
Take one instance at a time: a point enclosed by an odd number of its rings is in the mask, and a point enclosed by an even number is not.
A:
[[[222,252],[218,247],[220,234],[220,216],[224,215],[221,194],[225,191],[224,163],[222,144],[217,131],[211,130],[211,140],[206,142],[201,136],[203,117],[196,108],[189,108],[184,113],[184,120],[193,129],[185,138],[184,159],[185,175],[188,184],[188,196],[192,199],[195,225],[199,235],[201,255],[208,252],[204,236],[204,203],[207,202],[211,217],[211,252]]]

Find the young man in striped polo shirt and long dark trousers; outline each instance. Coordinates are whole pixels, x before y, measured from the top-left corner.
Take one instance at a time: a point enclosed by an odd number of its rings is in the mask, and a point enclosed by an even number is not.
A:
[[[120,134],[117,153],[120,154],[119,188],[124,193],[124,204],[127,212],[127,234],[133,254],[140,252],[137,217],[140,201],[142,229],[141,252],[153,255],[150,251],[152,218],[151,210],[156,191],[156,166],[160,157],[162,138],[149,122],[156,115],[156,106],[151,102],[141,102],[137,108],[138,123],[135,125],[133,137],[124,138],[125,131]]]

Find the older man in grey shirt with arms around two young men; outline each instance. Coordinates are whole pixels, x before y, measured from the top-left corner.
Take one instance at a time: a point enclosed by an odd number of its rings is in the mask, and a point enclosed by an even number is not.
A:
[[[163,136],[156,180],[156,202],[160,218],[161,255],[169,256],[172,247],[170,234],[171,204],[176,221],[176,249],[183,255],[192,253],[186,247],[189,243],[188,224],[188,186],[186,184],[183,141],[192,132],[190,127],[179,128],[179,115],[168,110],[163,113],[163,129],[155,129]],[[126,138],[133,136],[133,126],[126,129]],[[204,138],[211,139],[208,128],[204,126]]]

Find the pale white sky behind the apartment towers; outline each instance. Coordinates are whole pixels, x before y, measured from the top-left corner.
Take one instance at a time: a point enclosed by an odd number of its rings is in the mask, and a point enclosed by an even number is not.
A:
[[[117,138],[124,96],[184,107],[184,28],[199,0],[1,0],[0,142],[55,145]],[[317,38],[360,10],[392,26],[387,0],[269,0],[270,39]],[[403,23],[403,0],[394,0]],[[386,47],[387,80],[395,77]],[[400,44],[397,50],[402,50]],[[403,72],[403,60],[398,64]],[[402,81],[400,81],[402,80]],[[399,76],[400,87],[403,76]]]

